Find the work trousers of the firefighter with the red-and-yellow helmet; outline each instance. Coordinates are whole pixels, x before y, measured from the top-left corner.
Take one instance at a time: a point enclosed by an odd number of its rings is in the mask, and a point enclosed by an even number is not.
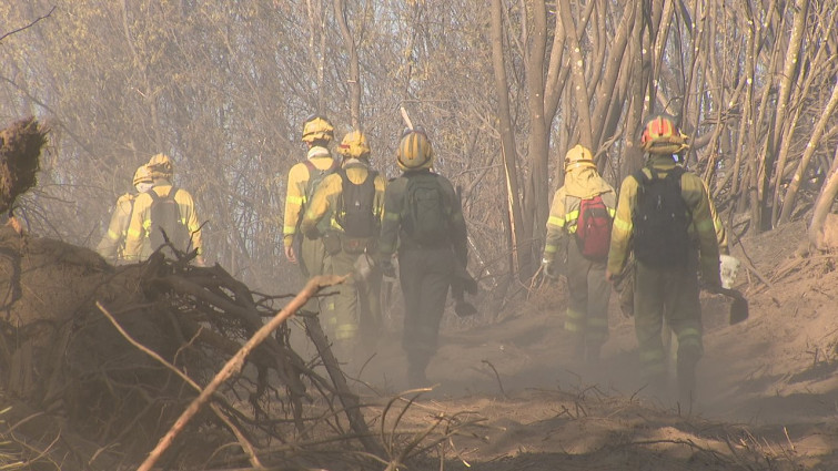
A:
[[[653,268],[640,260],[635,265],[635,332],[640,372],[650,381],[666,376],[664,318],[678,339],[679,372],[685,369],[694,373],[695,364],[704,354],[697,266],[696,253],[690,254],[686,267]]]

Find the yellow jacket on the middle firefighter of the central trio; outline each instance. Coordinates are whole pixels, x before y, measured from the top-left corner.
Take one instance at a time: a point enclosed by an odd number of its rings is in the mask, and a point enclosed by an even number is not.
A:
[[[370,173],[368,164],[359,158],[346,160],[343,163],[343,168],[346,171],[346,177],[350,182],[356,185],[364,183]],[[387,181],[382,174],[377,174],[373,184],[375,186],[373,214],[381,221],[384,211],[384,191],[387,186]],[[314,195],[312,195],[311,202],[306,205],[305,215],[302,223],[300,223],[300,229],[303,234],[312,232],[324,217],[329,217],[330,219],[330,229],[343,233],[343,227],[337,222],[336,211],[339,209],[339,198],[342,193],[343,178],[341,178],[340,174],[333,173],[323,178]]]

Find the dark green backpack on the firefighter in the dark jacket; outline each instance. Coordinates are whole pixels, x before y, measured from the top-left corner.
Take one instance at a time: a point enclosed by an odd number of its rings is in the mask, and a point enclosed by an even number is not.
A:
[[[402,216],[404,232],[414,243],[440,246],[450,240],[451,204],[443,194],[440,176],[432,173],[405,175],[407,191]]]

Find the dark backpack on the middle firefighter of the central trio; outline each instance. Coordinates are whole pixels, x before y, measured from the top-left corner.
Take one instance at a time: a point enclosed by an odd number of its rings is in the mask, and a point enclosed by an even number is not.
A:
[[[337,203],[335,219],[343,227],[343,233],[349,237],[372,237],[378,232],[378,219],[375,217],[373,205],[375,204],[375,176],[374,171],[368,171],[366,180],[360,184],[352,183],[346,171],[337,171],[343,181],[343,190]]]

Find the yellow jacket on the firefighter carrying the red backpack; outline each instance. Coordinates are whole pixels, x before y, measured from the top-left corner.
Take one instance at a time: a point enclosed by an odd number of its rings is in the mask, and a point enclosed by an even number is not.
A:
[[[547,238],[544,245],[544,262],[551,263],[566,243],[565,235],[576,233],[582,199],[596,195],[603,198],[608,214],[614,217],[617,207],[617,193],[596,172],[596,168],[574,168],[565,175],[565,184],[556,191],[547,218]]]

